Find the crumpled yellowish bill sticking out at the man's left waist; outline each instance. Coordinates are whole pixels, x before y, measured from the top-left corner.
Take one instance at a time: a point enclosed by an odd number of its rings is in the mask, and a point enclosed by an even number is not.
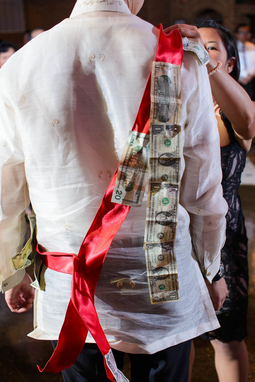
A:
[[[36,215],[28,216],[30,229],[31,229],[31,237],[26,242],[24,248],[21,252],[17,253],[15,256],[11,257],[10,262],[15,270],[24,269],[31,265],[32,261],[28,259],[30,254],[34,252],[34,239],[35,239],[35,229],[36,229]]]

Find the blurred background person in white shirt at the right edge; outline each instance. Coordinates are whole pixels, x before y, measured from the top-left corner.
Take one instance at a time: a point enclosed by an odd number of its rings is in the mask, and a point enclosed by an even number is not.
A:
[[[238,24],[235,30],[237,49],[240,58],[239,83],[255,101],[255,44],[250,42],[250,26]]]

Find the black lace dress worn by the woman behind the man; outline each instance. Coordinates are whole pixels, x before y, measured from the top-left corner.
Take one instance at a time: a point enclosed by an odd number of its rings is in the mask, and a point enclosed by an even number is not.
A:
[[[219,329],[205,333],[202,337],[221,342],[242,341],[247,336],[246,316],[248,305],[248,261],[247,236],[244,215],[238,195],[240,178],[244,170],[246,152],[234,134],[230,121],[220,112],[229,134],[230,143],[221,147],[221,168],[223,172],[223,197],[229,206],[226,215],[226,243],[221,250],[224,264],[224,278],[229,291],[223,307],[216,312]]]

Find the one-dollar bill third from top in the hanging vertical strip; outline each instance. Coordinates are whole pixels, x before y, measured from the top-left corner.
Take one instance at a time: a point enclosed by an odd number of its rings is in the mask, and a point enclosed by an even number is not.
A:
[[[149,184],[145,242],[164,243],[175,239],[178,211],[178,185]]]

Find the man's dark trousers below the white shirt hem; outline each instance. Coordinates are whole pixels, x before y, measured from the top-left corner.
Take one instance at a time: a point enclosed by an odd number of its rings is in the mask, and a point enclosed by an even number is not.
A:
[[[57,341],[52,341],[54,349]],[[171,346],[154,354],[128,354],[131,382],[188,382],[191,340]],[[119,370],[124,354],[112,349]],[[64,382],[109,382],[104,358],[94,343],[85,343],[75,364],[62,371]]]

